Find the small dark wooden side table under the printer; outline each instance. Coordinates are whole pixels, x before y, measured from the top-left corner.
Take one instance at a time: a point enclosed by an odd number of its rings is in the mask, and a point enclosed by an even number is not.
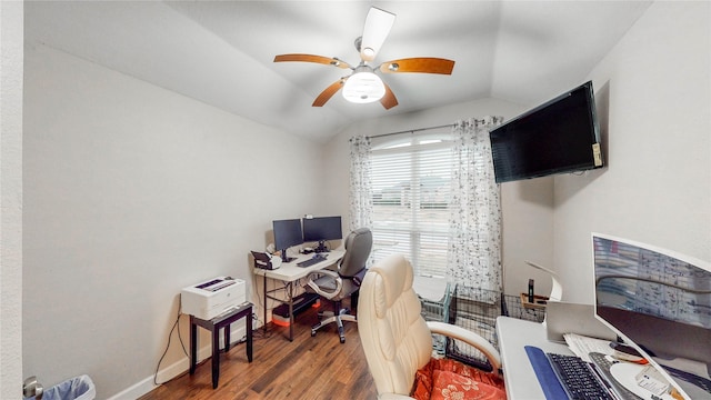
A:
[[[247,359],[252,362],[252,303],[244,303],[211,320],[190,316],[190,374],[196,372],[198,326],[200,326],[212,334],[212,389],[218,387],[220,379],[220,329],[224,329],[224,352],[228,352],[230,350],[230,324],[244,317],[247,317]]]

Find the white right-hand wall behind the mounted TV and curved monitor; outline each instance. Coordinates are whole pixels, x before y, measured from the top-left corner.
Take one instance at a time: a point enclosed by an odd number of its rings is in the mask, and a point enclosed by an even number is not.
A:
[[[564,298],[592,301],[591,232],[711,260],[710,49],[711,3],[655,2],[590,74],[608,167],[554,181]]]

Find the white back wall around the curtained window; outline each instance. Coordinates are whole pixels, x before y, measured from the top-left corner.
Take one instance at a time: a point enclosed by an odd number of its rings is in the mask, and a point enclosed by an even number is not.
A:
[[[350,152],[348,140],[357,134],[381,134],[408,129],[438,127],[467,118],[502,116],[513,118],[527,108],[497,99],[484,99],[430,109],[421,112],[385,117],[354,124],[333,138],[326,149],[327,188],[330,201],[340,204],[339,212],[349,214]],[[537,292],[550,292],[550,279],[527,267],[523,260],[551,266],[552,260],[552,178],[501,184],[503,219],[504,290],[520,293],[527,290],[529,278],[537,281]],[[348,218],[346,219],[348,220]],[[344,221],[348,227],[348,222]]]

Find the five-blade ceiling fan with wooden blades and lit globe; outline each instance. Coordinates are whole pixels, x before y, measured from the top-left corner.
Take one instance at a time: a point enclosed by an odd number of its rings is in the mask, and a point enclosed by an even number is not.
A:
[[[341,69],[350,69],[349,76],[342,77],[331,83],[323,90],[313,101],[313,107],[322,107],[336,92],[343,90],[346,100],[357,103],[367,103],[380,100],[380,103],[389,110],[398,106],[398,99],[390,90],[390,87],[382,81],[379,73],[399,73],[399,72],[421,72],[421,73],[440,73],[451,74],[454,68],[454,61],[431,58],[417,57],[399,60],[391,60],[372,67],[370,63],[375,59],[378,51],[385,41],[390,29],[394,23],[395,14],[371,7],[365,17],[365,27],[363,36],[356,39],[356,49],[360,52],[360,63],[352,67],[348,62],[336,57],[323,57],[313,54],[280,54],[274,57],[274,62],[283,61],[302,61],[316,62],[327,66],[333,66]]]

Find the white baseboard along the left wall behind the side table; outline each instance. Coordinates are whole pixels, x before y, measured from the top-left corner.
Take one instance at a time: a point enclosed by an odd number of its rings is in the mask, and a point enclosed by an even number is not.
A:
[[[247,336],[247,328],[244,323],[234,323],[231,326],[230,330],[230,341],[232,343],[240,342],[244,340]],[[236,340],[237,339],[237,340]],[[224,336],[220,336],[220,349],[224,348]],[[200,347],[198,349],[198,362],[200,363],[204,359],[212,357],[212,346],[208,341],[204,343],[206,346]],[[187,350],[190,351],[190,344],[188,344]],[[208,367],[209,368],[209,367]],[[172,363],[166,368],[162,368],[158,371],[156,380],[159,383],[168,382],[169,380],[180,376],[181,373],[188,372],[190,369],[190,359],[188,357],[183,357],[178,362]],[[122,390],[121,392],[110,397],[108,400],[133,400],[138,399],[141,396],[150,392],[151,390],[158,388],[153,383],[153,376],[150,376],[136,384]]]

